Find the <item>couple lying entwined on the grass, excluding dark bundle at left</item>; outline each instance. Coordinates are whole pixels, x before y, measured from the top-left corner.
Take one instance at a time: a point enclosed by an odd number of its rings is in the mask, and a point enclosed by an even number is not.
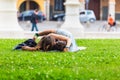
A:
[[[62,29],[45,30],[45,31],[36,33],[33,39],[36,40],[36,38],[39,36],[43,36],[43,37],[38,42],[37,46],[35,47],[22,46],[22,49],[29,50],[29,51],[59,50],[59,51],[65,51],[65,52],[66,51],[75,52],[80,50],[75,42],[73,35],[66,30],[62,30]],[[82,47],[82,49],[85,49],[85,47]]]

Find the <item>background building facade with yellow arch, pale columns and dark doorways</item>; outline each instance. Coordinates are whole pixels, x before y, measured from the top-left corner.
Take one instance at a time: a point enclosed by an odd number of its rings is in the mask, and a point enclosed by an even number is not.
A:
[[[45,13],[47,20],[52,20],[54,14],[65,12],[66,0],[18,0],[17,9],[22,12],[39,8]],[[80,10],[91,9],[95,12],[97,20],[106,20],[108,14],[112,14],[115,19],[120,19],[120,0],[79,0]]]

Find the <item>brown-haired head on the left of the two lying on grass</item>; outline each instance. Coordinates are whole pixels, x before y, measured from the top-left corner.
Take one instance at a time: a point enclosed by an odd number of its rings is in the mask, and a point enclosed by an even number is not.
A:
[[[53,48],[53,45],[55,43],[55,38],[52,36],[44,36],[41,39],[41,49],[43,51],[50,51]]]

